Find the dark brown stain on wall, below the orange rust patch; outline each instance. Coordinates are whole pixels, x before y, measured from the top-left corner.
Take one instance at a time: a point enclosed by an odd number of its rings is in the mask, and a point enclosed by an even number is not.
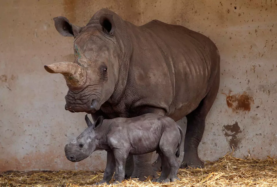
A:
[[[231,139],[229,139],[230,148],[232,149],[233,147],[234,150],[237,149],[238,145],[240,144],[240,138],[238,138],[238,134],[241,133],[238,122],[234,123],[233,125],[224,125],[223,132],[225,132],[225,137],[231,137]]]

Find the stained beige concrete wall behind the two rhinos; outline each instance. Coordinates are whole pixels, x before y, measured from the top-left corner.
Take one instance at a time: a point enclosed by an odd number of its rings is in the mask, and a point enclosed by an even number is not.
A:
[[[86,127],[84,114],[64,110],[65,80],[43,67],[73,60],[73,38],[59,35],[52,18],[83,26],[101,8],[137,25],[152,19],[180,24],[217,44],[220,90],[199,146],[202,159],[216,160],[232,146],[240,158],[277,156],[276,1],[0,2],[0,171],[104,169],[104,151],[78,163],[65,158],[64,145]]]

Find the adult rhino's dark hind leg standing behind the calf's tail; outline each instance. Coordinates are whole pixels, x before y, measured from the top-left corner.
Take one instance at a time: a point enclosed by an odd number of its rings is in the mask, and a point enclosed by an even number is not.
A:
[[[205,120],[208,112],[210,111],[218,93],[219,89],[219,76],[218,71],[213,86],[208,94],[203,98],[198,107],[187,115],[187,131],[184,140],[184,158],[181,168],[203,168],[204,162],[198,157],[198,145],[202,139]]]

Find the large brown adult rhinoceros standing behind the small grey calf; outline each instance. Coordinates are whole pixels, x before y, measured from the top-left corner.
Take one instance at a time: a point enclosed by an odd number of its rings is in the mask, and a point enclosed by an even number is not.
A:
[[[175,121],[186,116],[181,167],[203,167],[198,145],[220,78],[220,55],[208,37],[158,20],[135,26],[107,9],[84,27],[65,17],[54,21],[61,35],[74,37],[74,62],[45,66],[66,79],[66,110],[92,114],[93,120],[145,113]],[[161,163],[158,158],[153,170],[151,156],[129,156],[125,176],[144,180],[155,175]]]

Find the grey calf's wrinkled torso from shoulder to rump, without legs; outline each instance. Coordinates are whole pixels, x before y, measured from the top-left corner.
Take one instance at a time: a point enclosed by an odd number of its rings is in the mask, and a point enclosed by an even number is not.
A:
[[[158,150],[160,139],[165,130],[168,132],[166,136],[170,134],[171,130],[179,132],[174,120],[156,114],[143,114],[134,118],[117,118],[111,127],[112,133],[108,135],[111,139],[119,138],[118,135],[121,135],[120,141],[116,141],[117,145],[112,147],[127,148],[130,150],[129,154],[133,155]]]

